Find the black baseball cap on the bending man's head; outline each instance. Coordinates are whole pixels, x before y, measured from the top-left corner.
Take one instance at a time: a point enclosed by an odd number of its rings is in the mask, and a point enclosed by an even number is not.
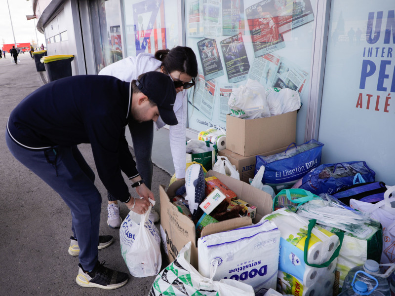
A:
[[[157,71],[147,72],[136,81],[136,85],[148,99],[158,105],[160,118],[165,124],[178,124],[173,110],[177,93],[170,76]]]

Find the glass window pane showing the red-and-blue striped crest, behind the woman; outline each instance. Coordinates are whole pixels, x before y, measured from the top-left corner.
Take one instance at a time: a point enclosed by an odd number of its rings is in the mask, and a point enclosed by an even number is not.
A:
[[[179,0],[124,0],[126,54],[155,53],[182,45]]]

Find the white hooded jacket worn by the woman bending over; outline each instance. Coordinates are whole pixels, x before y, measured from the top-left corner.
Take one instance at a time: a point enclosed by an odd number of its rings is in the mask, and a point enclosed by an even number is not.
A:
[[[99,75],[110,75],[117,77],[122,81],[131,82],[140,76],[140,74],[150,71],[159,71],[161,61],[157,60],[153,54],[140,53],[137,57],[127,57],[116,63],[103,68]],[[186,135],[185,129],[187,125],[187,91],[180,91],[174,102],[174,113],[176,114],[178,124],[169,126],[170,132],[170,149],[173,157],[173,164],[176,178],[185,178],[186,169]],[[165,126],[159,117],[154,122],[156,129]]]

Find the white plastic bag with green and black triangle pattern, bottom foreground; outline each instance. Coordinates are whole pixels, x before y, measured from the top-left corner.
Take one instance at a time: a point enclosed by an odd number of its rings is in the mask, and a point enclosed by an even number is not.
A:
[[[251,286],[235,280],[214,281],[218,261],[211,265],[209,277],[204,277],[191,265],[191,242],[177,258],[156,277],[149,296],[254,296]]]

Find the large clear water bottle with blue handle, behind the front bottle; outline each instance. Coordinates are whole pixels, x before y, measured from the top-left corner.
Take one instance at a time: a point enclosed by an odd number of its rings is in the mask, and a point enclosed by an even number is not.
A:
[[[376,281],[372,279],[374,278],[378,282],[376,291],[383,293],[385,296],[391,296],[390,285],[387,280],[388,275],[387,277],[384,277],[384,275],[380,274],[379,263],[370,259],[366,260],[365,264],[350,269],[349,273],[344,279],[342,290],[348,290],[351,288],[353,278],[358,271],[364,272],[361,274],[358,273],[358,277],[356,278],[357,281],[365,283],[368,289],[371,290],[374,285],[376,285]]]

